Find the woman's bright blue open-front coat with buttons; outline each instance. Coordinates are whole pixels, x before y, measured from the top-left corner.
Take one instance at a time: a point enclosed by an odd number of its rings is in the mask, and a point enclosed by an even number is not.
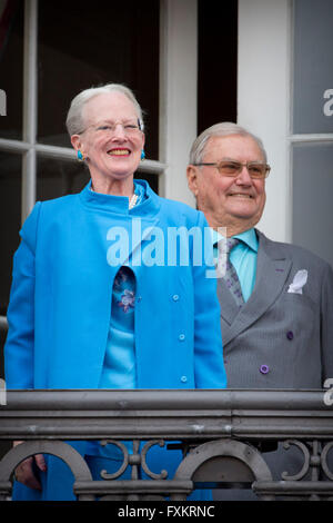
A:
[[[137,279],[138,388],[225,387],[216,280],[205,277],[205,218],[135,181],[147,199],[131,210],[128,198],[97,194],[91,184],[36,204],[13,260],[8,388],[99,386],[113,279],[124,264]],[[77,448],[84,454],[84,442]],[[70,499],[61,474],[52,481],[49,465],[42,499]]]

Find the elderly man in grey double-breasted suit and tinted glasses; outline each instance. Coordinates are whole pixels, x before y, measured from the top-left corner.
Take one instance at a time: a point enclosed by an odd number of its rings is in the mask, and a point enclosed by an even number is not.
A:
[[[233,274],[218,279],[228,386],[322,388],[333,378],[333,273],[312,253],[255,228],[265,205],[266,161],[258,137],[222,122],[196,138],[186,170],[215,239],[225,227],[231,244]],[[274,454],[266,456],[275,460],[276,475],[300,471],[299,451],[279,460]]]

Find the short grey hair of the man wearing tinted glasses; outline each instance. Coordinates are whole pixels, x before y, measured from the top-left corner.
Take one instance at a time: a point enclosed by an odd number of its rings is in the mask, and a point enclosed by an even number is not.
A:
[[[231,135],[248,136],[252,138],[258,144],[258,147],[263,154],[264,161],[268,161],[268,155],[264,149],[263,142],[258,136],[248,131],[244,127],[241,127],[238,124],[233,124],[232,121],[223,121],[221,124],[215,124],[214,126],[209,127],[203,132],[201,132],[201,135],[199,135],[199,137],[194,140],[190,151],[190,164],[195,165],[202,161],[204,149],[210,138],[214,136]]]

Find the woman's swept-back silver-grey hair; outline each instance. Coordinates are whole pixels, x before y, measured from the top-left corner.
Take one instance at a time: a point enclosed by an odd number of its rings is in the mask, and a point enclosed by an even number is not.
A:
[[[71,102],[70,109],[67,115],[65,127],[70,136],[79,135],[84,130],[84,121],[82,117],[83,107],[85,103],[98,95],[109,92],[122,92],[133,103],[138,118],[140,120],[141,130],[143,130],[143,116],[142,109],[131,89],[122,83],[105,83],[104,86],[91,87],[79,92]]]

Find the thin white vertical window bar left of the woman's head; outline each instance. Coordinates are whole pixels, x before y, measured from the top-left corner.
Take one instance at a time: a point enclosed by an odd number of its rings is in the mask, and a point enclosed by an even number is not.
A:
[[[29,149],[22,158],[22,221],[36,203],[37,111],[38,111],[38,0],[24,2],[23,141]]]

